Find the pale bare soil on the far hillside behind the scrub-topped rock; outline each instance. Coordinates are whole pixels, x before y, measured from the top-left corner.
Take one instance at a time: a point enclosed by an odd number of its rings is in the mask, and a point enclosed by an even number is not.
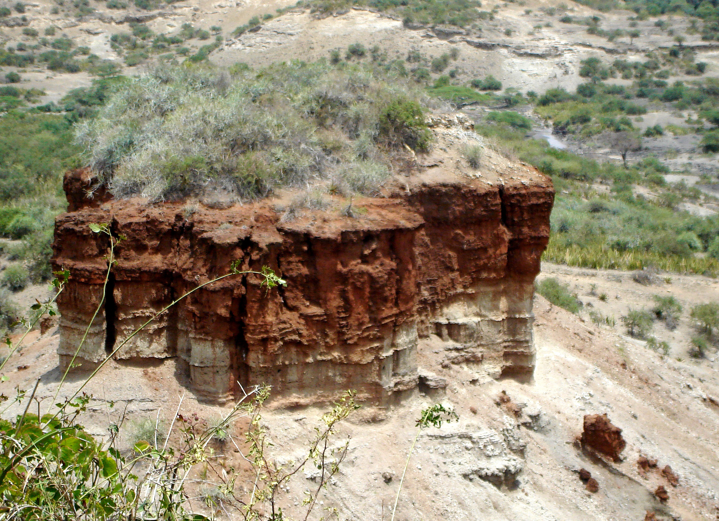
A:
[[[408,50],[417,49],[430,59],[447,52],[450,47],[457,47],[460,58],[450,68],[459,68],[460,80],[467,81],[493,74],[505,86],[538,92],[554,86],[574,90],[577,83],[584,81],[577,74],[579,62],[589,56],[596,55],[604,60],[613,60],[619,54],[621,58],[630,61],[644,61],[646,51],[674,45],[671,35],[654,27],[655,18],[638,22],[637,29],[640,30],[641,37],[633,42],[627,37],[608,42],[606,38],[589,35],[584,25],[559,22],[563,12],[550,16],[541,11],[562,4],[554,0],[526,1],[522,6],[497,4],[499,11],[495,20],[480,20],[478,23],[482,30],[470,30],[466,37],[468,42],[464,41],[463,37],[442,39],[427,29],[408,30],[402,27],[399,20],[354,9],[347,14],[326,19],[316,19],[308,12],[290,12],[265,22],[258,32],[246,33],[237,39],[230,35],[235,27],[246,23],[249,18],[266,13],[274,14],[276,9],[293,3],[292,0],[179,1],[156,12],[134,8],[106,9],[102,3],[93,3],[93,7],[97,9],[95,14],[76,19],[65,11],[51,14],[50,10],[56,6],[55,2],[38,0],[28,4],[25,16],[29,19],[29,27],[38,30],[41,36],[46,27],[54,25],[59,29],[56,36],[73,37],[76,45],[87,45],[101,58],[116,60],[118,63],[122,62],[122,58],[109,47],[109,37],[119,32],[129,32],[124,17],[127,14],[139,14],[150,18],[145,22],[150,29],[168,35],[178,32],[180,26],[186,22],[205,29],[213,25],[221,27],[226,43],[213,53],[212,60],[216,63],[229,64],[242,60],[252,65],[265,65],[280,60],[316,59],[327,57],[329,50],[333,48],[341,48],[344,52],[352,42],[362,42],[368,47],[380,45],[390,56],[406,56]],[[487,10],[492,8],[493,5],[490,4],[482,7]],[[531,13],[526,14],[526,9],[531,9]],[[625,30],[629,29],[627,18],[633,15],[628,11],[598,13],[571,3],[566,14],[575,18],[597,15],[602,19],[601,27]],[[719,71],[719,53],[713,46],[702,42],[699,35],[685,35],[688,27],[685,19],[672,17],[671,23],[676,34],[686,37],[684,45],[697,50],[697,60],[710,64],[707,75],[712,76]],[[545,27],[546,24],[550,24],[550,27]],[[536,25],[541,25],[541,29],[534,29]],[[507,29],[513,30],[511,36],[505,35]],[[33,45],[35,41],[32,37],[22,35],[22,27],[0,28],[0,42],[6,47],[17,45],[18,42]],[[189,42],[191,47],[206,43],[209,43],[209,40]],[[494,47],[484,49],[474,46],[480,44]],[[142,70],[142,67],[130,68],[127,72],[132,73],[135,69]],[[28,78],[33,76],[28,74]],[[84,81],[88,79],[84,78]],[[671,78],[672,81],[675,79],[692,78]],[[78,82],[69,76],[34,78],[32,81],[48,90],[57,89],[58,85],[64,86],[65,91]],[[35,83],[32,86],[35,86]]]

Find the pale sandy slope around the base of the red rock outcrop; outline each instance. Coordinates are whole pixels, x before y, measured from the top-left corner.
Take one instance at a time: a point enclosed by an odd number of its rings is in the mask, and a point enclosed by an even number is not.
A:
[[[569,282],[585,304],[592,302],[595,309],[617,318],[630,305],[649,306],[652,294],[674,294],[685,310],[719,296],[717,281],[696,276],[673,276],[672,284],[649,287],[638,286],[628,273],[566,266],[544,266],[541,276]],[[597,291],[608,293],[607,303],[586,295],[592,283],[597,284]],[[620,327],[593,325],[539,296],[535,313],[537,360],[531,382],[493,381],[481,366],[446,363],[456,346],[438,337],[423,341],[422,371],[446,379],[446,389],[428,389],[431,396],[417,393],[387,407],[365,406],[344,422],[337,442],[349,439],[349,453],[321,497],[321,507],[336,507],[341,520],[389,519],[416,433],[414,421],[423,407],[441,401],[454,407],[459,422],[421,433],[400,495],[396,517],[400,521],[641,521],[647,511],[656,512],[660,520],[715,520],[719,507],[717,362],[710,359],[716,360],[715,353],[698,361],[684,354],[685,336],[690,334],[686,312],[676,332],[665,334],[660,325],[654,328],[658,337],[672,343],[672,355],[664,358],[623,335]],[[44,337],[34,335],[34,343],[10,361],[3,391],[7,394],[14,386],[30,389],[40,378],[37,394],[47,404],[60,378],[55,354],[58,337],[52,331]],[[676,360],[679,355],[681,362]],[[73,377],[60,396],[75,389],[79,381]],[[125,444],[132,440],[133,421],[154,419],[157,414],[168,421],[183,394],[183,413],[197,412],[211,420],[226,410],[197,402],[178,384],[171,359],[154,365],[110,363],[88,391],[95,397],[95,412],[87,419],[95,435],[104,435],[109,422],[103,399],[116,400],[116,409],[127,405],[129,421],[121,431]],[[521,409],[519,417],[496,402],[500,391],[506,391]],[[14,407],[4,415],[18,411]],[[310,407],[271,409],[263,414],[279,461],[302,455],[322,412]],[[574,443],[583,415],[593,413],[607,413],[623,429],[627,442],[623,461],[595,458]],[[237,465],[232,444],[219,447],[219,453],[226,468]],[[658,459],[659,468],[670,465],[679,476],[679,486],[670,486],[658,471],[646,478],[638,474],[640,454]],[[597,479],[597,493],[585,490],[577,474],[580,468],[587,468]],[[294,517],[301,512],[304,491],[316,486],[315,476],[312,468],[306,468],[290,480],[280,497],[286,514]],[[508,479],[493,484],[492,476]],[[385,482],[385,477],[391,480]],[[666,504],[653,496],[660,484],[669,491]]]

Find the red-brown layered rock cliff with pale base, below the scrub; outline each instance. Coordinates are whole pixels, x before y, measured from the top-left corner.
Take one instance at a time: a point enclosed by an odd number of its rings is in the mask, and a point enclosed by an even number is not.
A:
[[[281,222],[270,201],[229,209],[145,200],[88,201],[86,171],[68,173],[72,212],[55,225],[55,267],[71,273],[58,299],[67,365],[98,306],[109,238],[117,237],[106,304],[75,363],[97,363],[142,323],[116,358],[177,356],[193,388],[227,399],[254,384],[308,403],[342,389],[385,402],[417,385],[418,339],[439,335],[493,376],[531,374],[533,280],[549,238],[554,189],[526,166],[521,180],[414,176],[377,199]],[[105,197],[103,196],[103,199]],[[345,203],[346,204],[346,203]],[[152,317],[198,284],[242,268]]]

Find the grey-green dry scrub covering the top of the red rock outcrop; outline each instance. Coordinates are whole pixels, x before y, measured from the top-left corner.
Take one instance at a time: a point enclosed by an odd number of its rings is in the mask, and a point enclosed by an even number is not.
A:
[[[359,65],[162,66],[125,83],[77,138],[119,197],[247,198],[316,181],[372,194],[394,153],[429,145],[420,96]]]

